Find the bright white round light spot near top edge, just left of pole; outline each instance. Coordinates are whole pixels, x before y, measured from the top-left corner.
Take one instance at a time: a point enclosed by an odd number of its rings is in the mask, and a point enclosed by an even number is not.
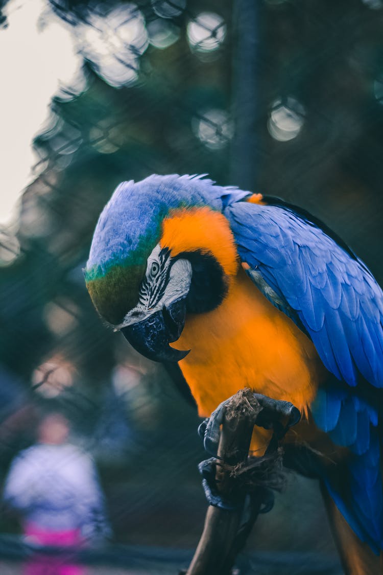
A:
[[[200,54],[214,52],[225,40],[226,24],[214,12],[201,12],[188,23],[187,36],[193,51]]]

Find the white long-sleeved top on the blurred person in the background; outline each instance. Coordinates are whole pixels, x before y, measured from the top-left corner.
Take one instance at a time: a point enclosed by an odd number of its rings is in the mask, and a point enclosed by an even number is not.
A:
[[[71,444],[37,444],[11,463],[4,499],[25,520],[49,530],[107,534],[94,462]]]

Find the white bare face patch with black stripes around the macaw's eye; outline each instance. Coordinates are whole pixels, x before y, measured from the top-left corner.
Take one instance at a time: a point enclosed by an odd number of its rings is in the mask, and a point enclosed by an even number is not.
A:
[[[146,263],[138,304],[126,314],[122,323],[116,325],[116,328],[121,329],[145,320],[164,306],[169,306],[186,296],[191,278],[192,267],[189,260],[177,259],[172,262],[169,251],[157,244]]]

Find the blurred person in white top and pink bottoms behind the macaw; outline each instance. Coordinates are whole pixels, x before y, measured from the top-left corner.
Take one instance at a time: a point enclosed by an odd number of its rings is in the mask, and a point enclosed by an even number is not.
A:
[[[110,535],[103,494],[92,458],[68,443],[68,420],[45,415],[38,442],[20,452],[6,478],[3,499],[20,516],[26,541],[79,548]],[[26,575],[84,575],[63,557],[38,555]]]

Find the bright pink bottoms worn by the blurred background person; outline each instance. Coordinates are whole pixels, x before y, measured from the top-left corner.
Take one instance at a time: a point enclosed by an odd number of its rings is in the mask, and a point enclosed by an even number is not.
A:
[[[83,544],[83,538],[79,529],[67,531],[47,531],[27,523],[24,534],[30,543],[38,545],[52,545],[57,547],[73,547],[78,549]],[[68,553],[70,561],[70,553]],[[67,563],[65,556],[54,557],[53,555],[34,555],[25,565],[25,575],[86,575],[86,569],[80,565]]]

